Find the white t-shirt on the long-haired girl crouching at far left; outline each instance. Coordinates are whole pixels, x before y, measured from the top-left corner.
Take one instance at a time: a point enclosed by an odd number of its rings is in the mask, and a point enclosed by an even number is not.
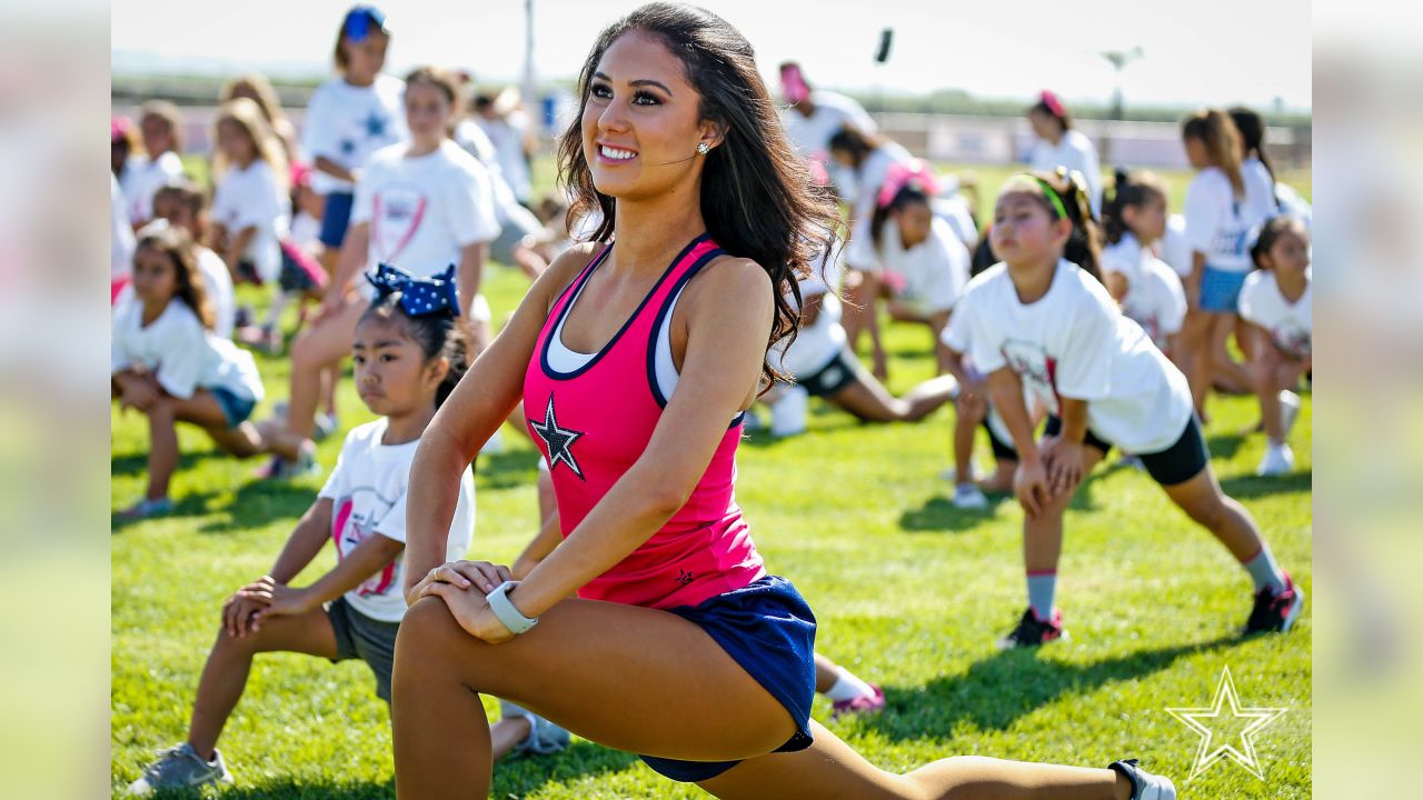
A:
[[[164,391],[181,399],[198,389],[226,389],[238,397],[262,400],[262,376],[252,353],[203,329],[182,300],[169,300],[147,327],[142,322],[144,303],[137,298],[114,310],[110,374],[125,369],[151,372]]]

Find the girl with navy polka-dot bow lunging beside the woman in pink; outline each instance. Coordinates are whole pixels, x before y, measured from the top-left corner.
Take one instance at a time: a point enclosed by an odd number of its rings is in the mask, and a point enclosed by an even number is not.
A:
[[[346,436],[336,468],[302,515],[272,571],[238,589],[198,682],[186,742],[164,750],[129,786],[157,789],[232,783],[218,736],[242,698],[252,656],[297,652],[333,662],[359,658],[390,702],[396,631],[406,615],[406,498],[421,431],[468,366],[471,335],[453,282],[411,279],[390,268],[373,278],[380,298],[361,315],[351,353],[360,399],[380,419]],[[460,558],[474,532],[474,477],[458,478],[444,554]],[[306,586],[292,581],[334,542],[337,565]],[[531,729],[541,733],[531,737]],[[566,733],[564,735],[566,737]],[[522,740],[522,742],[521,742]],[[566,742],[566,739],[564,739]],[[556,744],[548,723],[507,716],[495,757],[517,744]]]

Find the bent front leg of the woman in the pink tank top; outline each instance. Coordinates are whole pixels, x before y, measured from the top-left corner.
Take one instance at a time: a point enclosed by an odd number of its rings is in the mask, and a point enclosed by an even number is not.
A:
[[[488,793],[481,693],[609,747],[667,759],[746,759],[795,730],[780,702],[675,614],[569,599],[538,628],[490,645],[460,628],[444,601],[425,598],[406,614],[396,641],[398,797]]]

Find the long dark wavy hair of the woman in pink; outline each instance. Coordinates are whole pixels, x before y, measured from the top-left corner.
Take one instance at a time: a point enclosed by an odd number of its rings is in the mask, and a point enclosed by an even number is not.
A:
[[[702,215],[712,239],[726,252],[754,260],[771,278],[776,317],[767,350],[783,339],[794,340],[801,300],[797,279],[810,275],[817,253],[832,251],[840,209],[825,189],[815,186],[805,161],[787,140],[751,44],[712,11],[649,3],[598,36],[578,77],[578,114],[558,144],[559,179],[572,198],[569,219],[602,212],[593,239],[606,242],[613,235],[618,206],[593,186],[582,118],[598,63],[613,41],[630,31],[662,38],[700,95],[702,120],[724,131],[721,144],[704,157]],[[781,376],[767,363],[763,377],[768,389],[768,381]]]

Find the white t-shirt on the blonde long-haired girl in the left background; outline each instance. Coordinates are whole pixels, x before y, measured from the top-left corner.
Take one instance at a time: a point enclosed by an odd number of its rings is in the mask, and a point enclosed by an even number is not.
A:
[[[292,199],[272,171],[272,165],[258,159],[246,167],[231,167],[218,179],[212,195],[212,221],[236,236],[245,228],[256,228],[248,249],[242,253],[256,268],[263,282],[275,282],[282,275],[282,236],[290,225]]]

